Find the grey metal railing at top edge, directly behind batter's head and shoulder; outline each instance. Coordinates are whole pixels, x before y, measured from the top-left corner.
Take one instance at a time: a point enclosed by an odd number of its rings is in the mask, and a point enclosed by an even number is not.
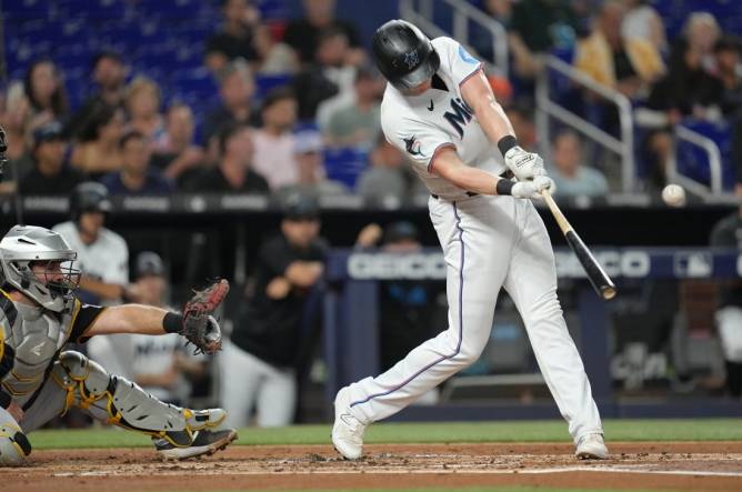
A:
[[[451,32],[434,22],[435,4],[448,6],[452,10]],[[400,17],[420,27],[432,36],[450,36],[468,50],[475,53],[469,39],[470,22],[479,24],[492,36],[492,60],[483,60],[489,69],[508,77],[508,31],[505,28],[472,4],[462,0],[401,0]]]

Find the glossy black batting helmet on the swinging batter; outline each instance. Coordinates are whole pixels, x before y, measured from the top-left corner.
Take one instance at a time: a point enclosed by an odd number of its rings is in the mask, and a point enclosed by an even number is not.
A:
[[[379,71],[401,90],[420,86],[441,66],[430,39],[415,26],[399,19],[377,29],[373,57]]]

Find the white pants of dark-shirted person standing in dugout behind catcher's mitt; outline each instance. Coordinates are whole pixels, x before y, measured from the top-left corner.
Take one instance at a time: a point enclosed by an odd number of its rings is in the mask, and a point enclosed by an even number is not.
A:
[[[289,425],[297,405],[297,378],[224,340],[220,354],[221,403],[232,426],[245,426],[255,409],[261,428]]]

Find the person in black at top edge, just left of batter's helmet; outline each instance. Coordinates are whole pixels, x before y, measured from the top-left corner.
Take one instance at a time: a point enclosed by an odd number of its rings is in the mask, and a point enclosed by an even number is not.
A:
[[[314,60],[319,50],[321,32],[337,29],[343,34],[351,49],[344,53],[345,62],[358,64],[364,54],[360,48],[358,29],[351,22],[335,19],[335,0],[304,0],[304,17],[289,22],[283,40],[293,48],[302,62]]]

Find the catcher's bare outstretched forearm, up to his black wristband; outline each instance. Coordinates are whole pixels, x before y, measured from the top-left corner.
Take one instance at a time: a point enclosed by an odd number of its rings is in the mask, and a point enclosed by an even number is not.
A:
[[[164,317],[168,311],[153,305],[123,304],[104,309],[86,337],[112,333],[164,334]]]

